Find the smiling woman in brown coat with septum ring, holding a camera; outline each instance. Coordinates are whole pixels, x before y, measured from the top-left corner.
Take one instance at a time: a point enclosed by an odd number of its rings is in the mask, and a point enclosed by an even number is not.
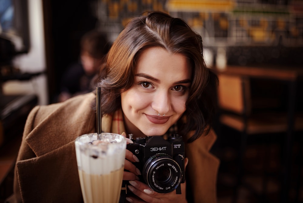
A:
[[[151,12],[133,18],[101,68],[102,131],[140,136],[181,134],[186,142],[182,194],[158,194],[138,181],[127,150],[129,202],[216,202],[219,161],[209,153],[217,77],[205,67],[201,36],[181,19]],[[95,94],[35,107],[25,126],[15,169],[16,201],[82,201],[76,137],[96,132]],[[186,189],[185,189],[186,188]]]

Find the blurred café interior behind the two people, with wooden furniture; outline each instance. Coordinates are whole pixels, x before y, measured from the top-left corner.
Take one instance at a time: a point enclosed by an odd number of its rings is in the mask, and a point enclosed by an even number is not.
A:
[[[0,202],[25,119],[58,102],[82,36],[98,30],[110,45],[150,10],[188,21],[219,76],[218,202],[303,202],[302,0],[0,0]]]

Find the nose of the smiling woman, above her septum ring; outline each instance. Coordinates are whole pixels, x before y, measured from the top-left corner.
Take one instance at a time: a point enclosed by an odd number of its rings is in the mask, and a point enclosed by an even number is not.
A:
[[[154,95],[151,107],[161,115],[166,114],[171,109],[171,99],[167,92],[158,92]]]

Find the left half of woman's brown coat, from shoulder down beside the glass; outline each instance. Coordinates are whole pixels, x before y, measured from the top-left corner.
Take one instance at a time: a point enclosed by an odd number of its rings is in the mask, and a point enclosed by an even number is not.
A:
[[[87,94],[33,109],[20,148],[24,153],[16,163],[23,202],[82,202],[74,140],[95,131],[93,99],[94,94]]]

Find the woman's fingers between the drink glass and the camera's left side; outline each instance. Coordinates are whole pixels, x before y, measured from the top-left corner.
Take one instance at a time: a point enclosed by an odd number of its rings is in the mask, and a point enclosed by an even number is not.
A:
[[[126,137],[125,132],[122,132],[122,136]],[[126,138],[127,144],[133,143],[132,140]],[[137,175],[141,175],[141,172],[138,168],[135,167],[133,162],[139,162],[138,158],[129,150],[125,152],[125,161],[124,161],[124,169],[128,171],[123,172],[123,180],[139,180]]]

